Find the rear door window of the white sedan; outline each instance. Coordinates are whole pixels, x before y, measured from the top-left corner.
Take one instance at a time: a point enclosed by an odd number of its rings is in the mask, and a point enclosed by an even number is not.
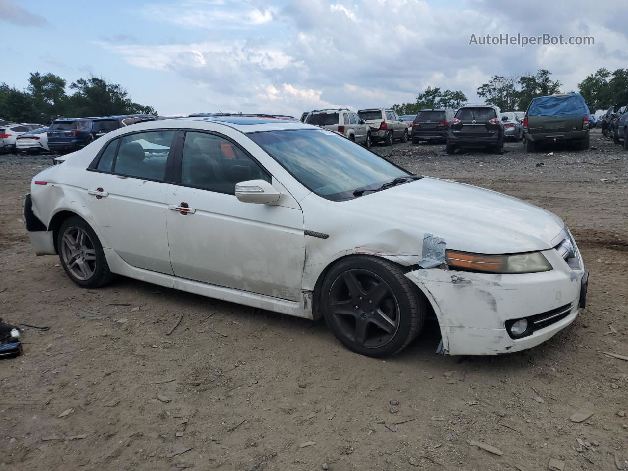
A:
[[[163,180],[174,136],[175,131],[149,131],[120,138],[114,173]]]

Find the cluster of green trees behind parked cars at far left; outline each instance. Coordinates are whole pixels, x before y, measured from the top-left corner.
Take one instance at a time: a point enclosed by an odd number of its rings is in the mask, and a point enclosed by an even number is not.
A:
[[[102,77],[79,78],[68,87],[69,95],[66,88],[62,77],[40,72],[31,72],[26,90],[0,84],[0,118],[48,124],[60,117],[156,114],[153,107],[131,100],[122,85]]]

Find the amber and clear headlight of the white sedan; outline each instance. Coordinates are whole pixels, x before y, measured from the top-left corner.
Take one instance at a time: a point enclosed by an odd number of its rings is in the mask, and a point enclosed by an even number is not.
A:
[[[539,273],[549,271],[552,266],[541,252],[512,255],[482,255],[448,250],[445,252],[451,268],[484,273]]]

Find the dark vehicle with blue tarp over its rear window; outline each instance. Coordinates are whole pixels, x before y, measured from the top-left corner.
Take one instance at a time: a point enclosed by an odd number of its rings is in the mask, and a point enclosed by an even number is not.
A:
[[[561,93],[534,98],[526,111],[524,144],[533,152],[538,144],[571,141],[589,148],[589,111],[579,93]]]

